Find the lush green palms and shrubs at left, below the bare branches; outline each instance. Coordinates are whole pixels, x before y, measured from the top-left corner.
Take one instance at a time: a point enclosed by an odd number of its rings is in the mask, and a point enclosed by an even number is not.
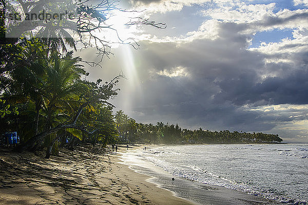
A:
[[[84,112],[78,114],[74,128],[48,134],[43,138],[45,147],[55,146],[52,147],[51,153],[57,154],[58,140],[67,136],[80,140],[94,139],[94,143],[115,141],[117,130],[112,107],[107,100],[118,94],[118,89],[114,87],[120,76],[109,83],[102,83],[101,79],[96,83],[82,80],[86,72],[79,64],[81,58],[73,57],[72,52],[65,55],[53,52],[51,57],[48,57],[46,46],[41,47],[40,43],[36,43],[31,45],[31,48],[43,48],[41,57],[30,65],[11,70],[7,77],[7,86],[2,89],[2,96],[11,105],[23,105],[22,115],[15,120],[20,123],[14,128],[22,141],[27,142],[37,134],[68,124],[83,105],[86,105]],[[2,115],[11,112],[18,114],[17,109],[10,105],[5,105],[1,111]],[[94,134],[86,135],[81,130],[94,131]],[[35,139],[35,143],[38,145],[36,147],[40,147],[41,138]]]

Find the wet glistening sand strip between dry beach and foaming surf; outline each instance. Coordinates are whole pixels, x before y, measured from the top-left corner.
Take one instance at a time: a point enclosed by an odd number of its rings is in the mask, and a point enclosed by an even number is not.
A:
[[[156,146],[147,145],[147,149],[150,150],[153,148],[166,147],[166,146],[168,145],[156,145]],[[126,154],[126,152],[124,152],[123,154]],[[213,186],[213,185],[208,185],[206,183],[191,181],[178,176],[172,176],[170,173],[167,172],[166,172],[167,174],[160,174],[158,173],[160,171],[153,171],[145,167],[140,167],[140,165],[138,165],[138,162],[134,163],[134,165],[128,165],[129,160],[125,160],[124,158],[125,157],[123,156],[121,161],[123,161],[122,163],[125,163],[125,165],[129,167],[129,169],[133,170],[138,174],[143,174],[151,177],[149,182],[153,183],[156,186],[159,186],[162,189],[171,191],[172,193],[174,193],[175,196],[186,199],[194,204],[211,204],[211,205],[283,204],[281,202],[269,200],[261,196],[251,195],[245,192],[240,192],[233,189],[227,189],[225,187]],[[132,161],[133,160],[136,159],[134,158],[132,159]],[[139,161],[139,163],[140,162],[141,161]],[[161,169],[161,168],[155,166],[155,169]],[[161,171],[164,172],[162,169]],[[175,181],[170,182],[171,177],[175,177]]]

